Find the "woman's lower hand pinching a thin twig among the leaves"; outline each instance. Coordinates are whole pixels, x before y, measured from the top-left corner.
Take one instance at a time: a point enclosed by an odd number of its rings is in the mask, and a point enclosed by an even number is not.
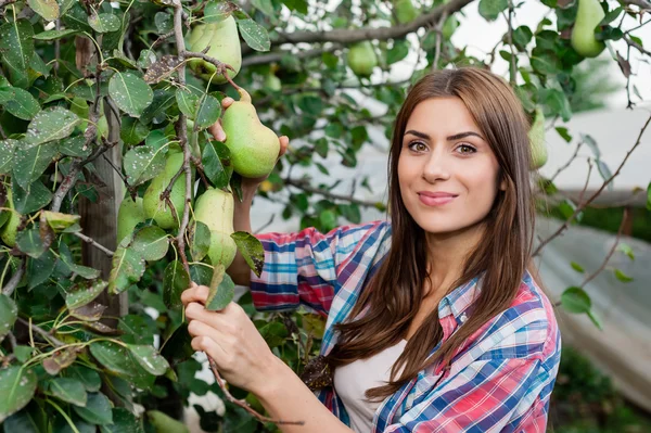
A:
[[[269,378],[283,371],[281,361],[240,305],[231,302],[220,311],[208,311],[208,288],[192,284],[181,294],[192,348],[212,357],[227,382],[259,395]]]

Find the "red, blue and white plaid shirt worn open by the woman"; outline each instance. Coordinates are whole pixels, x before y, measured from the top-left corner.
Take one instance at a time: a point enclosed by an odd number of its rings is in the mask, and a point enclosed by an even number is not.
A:
[[[259,278],[251,275],[256,308],[304,305],[327,316],[321,354],[328,355],[337,341],[333,324],[348,317],[388,251],[391,225],[375,221],[328,234],[310,228],[257,238],[265,249],[265,267]],[[443,341],[467,320],[480,290],[475,278],[441,301]],[[380,405],[373,433],[544,432],[560,349],[553,307],[527,272],[511,306],[468,339],[449,367],[434,362]],[[317,396],[349,425],[333,387]]]

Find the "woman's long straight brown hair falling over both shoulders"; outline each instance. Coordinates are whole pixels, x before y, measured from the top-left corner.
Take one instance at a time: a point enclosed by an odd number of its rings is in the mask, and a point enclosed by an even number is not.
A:
[[[335,326],[340,340],[328,360],[332,368],[365,359],[406,336],[419,310],[427,275],[425,233],[407,212],[398,186],[398,156],[407,120],[414,107],[431,98],[457,97],[463,101],[499,163],[498,191],[486,216],[483,241],[467,257],[461,277],[451,288],[481,276],[481,294],[470,317],[441,347],[443,336],[436,308],[409,339],[386,385],[367,391],[381,400],[395,393],[435,360],[450,362],[464,341],[513,302],[529,264],[534,206],[529,184],[528,122],[509,84],[488,71],[461,67],[431,73],[409,91],[395,122],[388,158],[388,203],[392,247],[354,306],[350,318]],[[368,310],[367,310],[368,307]],[[357,317],[365,311],[362,317]],[[398,373],[400,373],[398,375]]]

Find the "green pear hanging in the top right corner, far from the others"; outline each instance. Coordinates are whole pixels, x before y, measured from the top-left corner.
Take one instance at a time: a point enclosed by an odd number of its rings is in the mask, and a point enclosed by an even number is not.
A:
[[[604,16],[599,0],[578,0],[571,42],[574,50],[584,58],[596,58],[605,48],[605,43],[595,37],[595,28]]]

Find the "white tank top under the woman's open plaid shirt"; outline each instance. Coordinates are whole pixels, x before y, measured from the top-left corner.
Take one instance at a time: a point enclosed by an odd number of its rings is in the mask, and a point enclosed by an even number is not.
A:
[[[370,433],[373,429],[373,416],[380,402],[368,402],[366,392],[388,382],[391,369],[406,345],[407,340],[401,340],[368,359],[358,359],[334,369],[334,389],[350,417],[350,428],[356,433]]]

